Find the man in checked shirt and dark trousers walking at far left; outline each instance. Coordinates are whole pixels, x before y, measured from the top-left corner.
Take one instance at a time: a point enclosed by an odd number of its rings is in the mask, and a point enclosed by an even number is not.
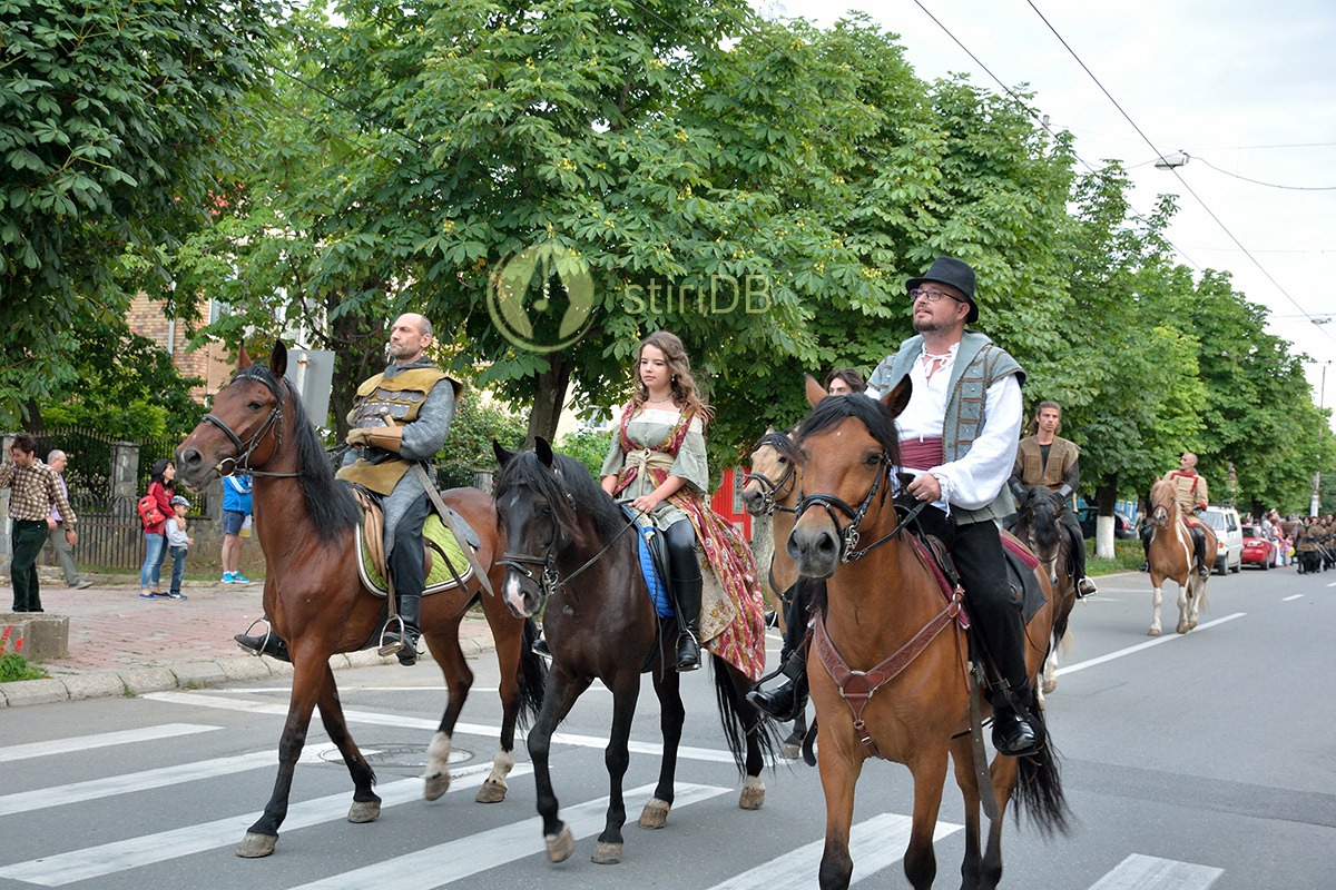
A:
[[[0,467],[0,488],[9,490],[9,578],[13,611],[40,612],[37,555],[47,543],[47,518],[55,508],[64,522],[65,543],[79,543],[75,511],[55,470],[37,459],[37,443],[27,432],[15,435],[9,460]]]

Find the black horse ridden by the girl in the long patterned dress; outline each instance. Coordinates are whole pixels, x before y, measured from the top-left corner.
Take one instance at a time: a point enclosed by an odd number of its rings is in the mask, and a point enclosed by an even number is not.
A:
[[[599,679],[612,693],[612,730],[604,761],[609,803],[593,862],[621,861],[621,826],[627,821],[621,783],[631,761],[628,741],[640,675],[651,671],[660,706],[663,762],[655,794],[640,814],[647,829],[663,827],[673,802],[677,745],[685,710],[676,666],[676,626],[660,634],[636,552],[636,530],[621,507],[589,476],[584,464],[552,451],[538,439],[534,451],[510,452],[494,446],[501,472],[496,480],[497,519],[509,550],[502,594],[525,618],[544,608],[542,630],[552,648],[552,667],[542,711],[529,731],[529,758],[537,783],[538,814],[548,858],[564,862],[574,853],[570,826],[557,815],[549,750],[552,734],[576,699]],[[751,681],[711,655],[719,715],[728,747],[745,771],[737,806],[759,809],[766,801],[760,779],[772,751],[768,723],[747,701]]]

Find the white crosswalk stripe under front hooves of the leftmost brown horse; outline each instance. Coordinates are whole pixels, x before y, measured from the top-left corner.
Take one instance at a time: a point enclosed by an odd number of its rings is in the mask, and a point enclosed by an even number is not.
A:
[[[528,775],[532,771],[533,767],[530,765],[517,763],[510,773],[510,778]],[[452,773],[450,794],[482,785],[490,773],[490,763],[480,765],[472,770]],[[375,793],[381,795],[381,806],[386,809],[409,803],[410,801],[421,801],[422,779],[399,779],[398,782],[377,786]],[[351,794],[345,791],[314,801],[293,803],[287,811],[287,818],[283,821],[283,833],[286,834],[325,822],[342,821],[347,817],[350,801]],[[203,853],[235,845],[259,817],[261,813],[255,811],[214,822],[146,834],[138,838],[127,838],[126,841],[103,843],[96,847],[44,855],[37,859],[0,867],[0,878],[12,878],[45,887],[60,887],[77,881],[88,881],[90,878],[99,878],[106,874],[178,859],[192,853]],[[351,830],[355,831],[357,829]]]

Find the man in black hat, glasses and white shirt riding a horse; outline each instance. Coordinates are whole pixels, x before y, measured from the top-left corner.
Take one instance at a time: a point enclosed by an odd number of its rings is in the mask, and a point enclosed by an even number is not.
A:
[[[1025,371],[987,336],[965,330],[979,318],[969,264],[939,256],[906,290],[918,335],[876,367],[866,392],[880,398],[906,375],[912,383],[896,418],[900,470],[914,476],[907,492],[931,504],[919,522],[950,550],[974,632],[1001,675],[990,693],[993,743],[1011,757],[1033,754],[1045,729],[1031,719],[1021,602],[1007,584],[999,536],[999,523],[1015,510],[1006,483],[1023,419]],[[792,683],[747,698],[779,719],[794,719],[795,701],[807,691],[806,652],[791,658],[784,673]]]

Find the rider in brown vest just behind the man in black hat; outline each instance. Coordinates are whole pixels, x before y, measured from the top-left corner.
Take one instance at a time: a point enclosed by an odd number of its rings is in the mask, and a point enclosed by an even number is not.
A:
[[[1070,439],[1058,435],[1062,428],[1062,406],[1057,402],[1041,402],[1034,412],[1033,436],[1021,439],[1015,452],[1015,467],[1011,470],[1011,494],[1017,500],[1025,500],[1025,494],[1034,486],[1043,486],[1062,498],[1062,524],[1071,538],[1071,574],[1077,579],[1077,599],[1085,599],[1098,588],[1086,578],[1085,535],[1077,519],[1075,491],[1081,486],[1081,448]]]

